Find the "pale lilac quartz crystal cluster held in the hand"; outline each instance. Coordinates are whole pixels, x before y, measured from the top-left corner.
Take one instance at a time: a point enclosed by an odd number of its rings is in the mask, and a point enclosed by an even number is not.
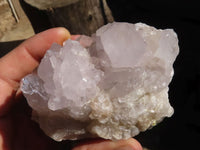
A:
[[[168,85],[178,52],[172,29],[114,22],[53,44],[21,90],[56,141],[127,139],[173,114]]]

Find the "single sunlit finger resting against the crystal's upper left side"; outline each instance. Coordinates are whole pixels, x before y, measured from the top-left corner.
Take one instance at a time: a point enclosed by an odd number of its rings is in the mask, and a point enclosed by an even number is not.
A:
[[[62,44],[68,38],[70,33],[66,29],[54,28],[26,40],[0,59],[0,77],[20,81],[33,71],[52,43]]]

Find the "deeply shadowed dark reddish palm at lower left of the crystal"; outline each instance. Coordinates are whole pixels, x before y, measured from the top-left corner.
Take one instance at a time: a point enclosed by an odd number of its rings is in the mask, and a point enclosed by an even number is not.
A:
[[[5,150],[55,150],[61,146],[31,120],[31,109],[24,100],[18,101],[8,115],[0,118],[0,131],[3,131]]]

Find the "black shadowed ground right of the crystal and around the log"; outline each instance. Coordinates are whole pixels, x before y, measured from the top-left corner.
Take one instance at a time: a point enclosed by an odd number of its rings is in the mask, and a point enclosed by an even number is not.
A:
[[[175,75],[169,90],[175,113],[136,137],[152,150],[200,149],[200,5],[197,2],[108,0],[116,21],[173,28],[178,34],[180,54],[174,64]],[[44,12],[30,9],[35,14],[31,20],[36,32],[51,27]],[[0,56],[20,42],[0,43]]]

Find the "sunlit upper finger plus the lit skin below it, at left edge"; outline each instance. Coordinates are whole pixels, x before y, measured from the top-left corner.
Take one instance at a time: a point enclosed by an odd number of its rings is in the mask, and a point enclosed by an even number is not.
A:
[[[52,43],[62,44],[68,38],[70,33],[65,28],[50,29],[26,40],[0,59],[0,116],[13,104],[19,81],[38,66]]]

